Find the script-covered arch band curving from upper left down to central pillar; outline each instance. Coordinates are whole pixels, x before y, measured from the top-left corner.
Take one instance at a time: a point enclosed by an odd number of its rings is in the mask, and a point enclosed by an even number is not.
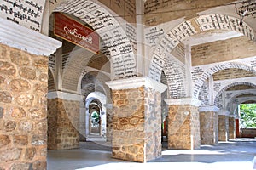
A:
[[[131,42],[112,11],[92,0],[62,0],[58,3],[53,12],[72,14],[91,26],[102,38],[102,51],[109,55],[113,65],[112,79],[136,76],[136,59]]]

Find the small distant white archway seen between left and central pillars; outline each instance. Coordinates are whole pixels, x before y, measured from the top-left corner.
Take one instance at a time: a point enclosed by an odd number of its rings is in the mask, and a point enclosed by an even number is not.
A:
[[[87,137],[89,132],[89,126],[90,126],[90,112],[89,112],[89,105],[92,100],[98,99],[102,106],[101,106],[101,120],[102,120],[102,137],[106,138],[106,130],[107,130],[107,108],[106,108],[106,102],[107,97],[105,94],[102,94],[100,92],[92,92],[90,93],[87,98],[85,99],[85,136]]]

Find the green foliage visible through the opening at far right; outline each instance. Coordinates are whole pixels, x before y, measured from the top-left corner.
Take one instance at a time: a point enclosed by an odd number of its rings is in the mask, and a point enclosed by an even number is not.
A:
[[[241,104],[240,114],[242,127],[256,127],[256,104]]]

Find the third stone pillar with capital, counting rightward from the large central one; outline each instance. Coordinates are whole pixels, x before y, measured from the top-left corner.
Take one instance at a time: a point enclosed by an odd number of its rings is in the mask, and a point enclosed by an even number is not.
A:
[[[218,144],[218,107],[200,107],[201,144]]]

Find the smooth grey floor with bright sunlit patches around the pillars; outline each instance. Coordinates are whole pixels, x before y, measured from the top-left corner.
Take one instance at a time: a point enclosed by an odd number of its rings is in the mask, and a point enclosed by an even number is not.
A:
[[[48,150],[48,170],[95,169],[253,169],[256,139],[233,139],[218,145],[201,145],[200,150],[167,150],[162,158],[135,163],[111,158],[111,147],[102,142],[85,142],[78,150]]]

